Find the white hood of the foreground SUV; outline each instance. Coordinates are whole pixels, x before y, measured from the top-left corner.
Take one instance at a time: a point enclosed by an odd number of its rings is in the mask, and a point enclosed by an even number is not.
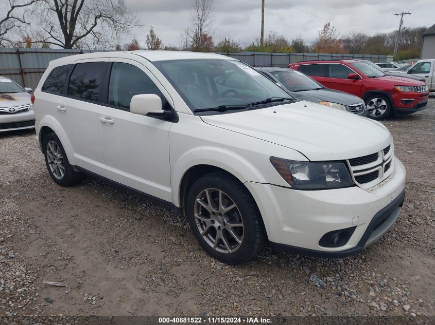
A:
[[[297,150],[312,161],[366,156],[392,141],[388,129],[379,122],[306,101],[201,119],[216,127]]]

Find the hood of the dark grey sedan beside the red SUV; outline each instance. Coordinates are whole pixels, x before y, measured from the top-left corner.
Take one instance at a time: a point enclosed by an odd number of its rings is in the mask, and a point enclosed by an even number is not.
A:
[[[333,89],[317,89],[317,90],[306,90],[306,91],[297,91],[291,92],[291,94],[295,98],[299,98],[302,100],[310,101],[310,102],[333,102],[343,105],[352,105],[352,104],[361,104],[362,100],[355,95],[350,93],[333,90]]]

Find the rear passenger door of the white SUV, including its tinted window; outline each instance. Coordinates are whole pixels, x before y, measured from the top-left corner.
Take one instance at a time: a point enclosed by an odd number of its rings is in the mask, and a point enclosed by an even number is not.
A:
[[[56,113],[73,147],[76,164],[98,175],[105,173],[105,161],[98,131],[101,89],[108,59],[78,60],[69,73],[64,97]]]

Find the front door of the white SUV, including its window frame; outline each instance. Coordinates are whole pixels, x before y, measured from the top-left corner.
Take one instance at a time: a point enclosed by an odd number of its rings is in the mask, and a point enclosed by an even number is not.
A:
[[[130,112],[131,98],[143,93],[158,94],[163,107],[172,109],[169,94],[145,66],[133,60],[111,59],[107,80],[107,106],[101,107],[98,122],[107,177],[171,202],[172,122]]]

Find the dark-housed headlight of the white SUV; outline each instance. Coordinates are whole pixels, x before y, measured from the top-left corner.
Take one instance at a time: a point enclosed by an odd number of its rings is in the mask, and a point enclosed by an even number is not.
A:
[[[294,189],[328,189],[352,186],[343,162],[302,162],[270,157],[270,162]]]

